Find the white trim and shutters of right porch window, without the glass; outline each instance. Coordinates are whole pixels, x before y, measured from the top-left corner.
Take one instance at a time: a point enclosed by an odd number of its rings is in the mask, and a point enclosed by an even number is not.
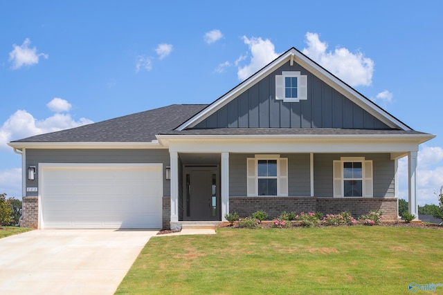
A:
[[[344,162],[361,162],[362,169],[362,184],[361,197],[345,197],[344,178],[343,178],[343,163]],[[373,197],[373,183],[372,183],[372,160],[365,160],[365,157],[341,157],[340,160],[334,160],[332,164],[333,170],[333,196],[334,198],[372,198]]]

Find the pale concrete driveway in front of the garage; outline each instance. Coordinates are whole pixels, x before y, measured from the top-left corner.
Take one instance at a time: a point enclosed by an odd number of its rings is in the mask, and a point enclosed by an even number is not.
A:
[[[157,231],[45,229],[0,239],[0,294],[114,294]]]

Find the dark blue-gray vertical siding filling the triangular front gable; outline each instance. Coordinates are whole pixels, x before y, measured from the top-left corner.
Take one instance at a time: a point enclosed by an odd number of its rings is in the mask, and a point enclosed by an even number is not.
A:
[[[300,71],[308,76],[307,100],[283,102],[275,99],[275,75],[281,75],[282,71]],[[293,66],[284,64],[194,128],[389,129],[296,63]]]

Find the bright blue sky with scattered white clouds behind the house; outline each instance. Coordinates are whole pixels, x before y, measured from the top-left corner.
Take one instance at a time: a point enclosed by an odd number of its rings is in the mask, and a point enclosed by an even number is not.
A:
[[[210,104],[295,47],[437,135],[419,149],[417,202],[438,203],[443,1],[0,1],[0,11],[0,193],[21,198],[11,140]]]

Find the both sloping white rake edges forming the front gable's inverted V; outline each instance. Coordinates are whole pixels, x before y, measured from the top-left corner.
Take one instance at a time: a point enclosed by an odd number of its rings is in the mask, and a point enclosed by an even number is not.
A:
[[[300,66],[309,70],[309,72],[311,72],[313,75],[316,75],[316,77],[318,77],[320,80],[334,88],[336,91],[347,97],[347,99],[350,99],[352,102],[363,108],[363,110],[367,111],[390,128],[401,129],[404,131],[413,130],[396,117],[383,110],[383,108],[372,102],[370,99],[363,96],[354,88],[343,82],[341,79],[330,73],[328,70],[317,64],[315,61],[301,53],[296,48],[287,50],[287,52],[271,61],[271,63],[264,66],[264,68],[257,71],[257,73],[246,79],[244,82],[235,86],[235,88],[228,91],[228,93],[225,95],[219,97],[219,99],[215,100],[215,102],[204,108],[195,116],[191,117],[186,122],[183,122],[183,124],[181,124],[176,130],[183,131],[196,126],[199,124],[199,122],[202,122],[213,113],[219,111],[219,109],[221,109],[223,106],[226,106],[226,104],[231,102],[233,99],[247,91],[248,88],[251,88],[251,86],[259,82],[261,79],[267,75],[270,75],[274,70],[282,66],[284,63],[292,63],[293,61],[296,61],[298,64],[300,64]]]

